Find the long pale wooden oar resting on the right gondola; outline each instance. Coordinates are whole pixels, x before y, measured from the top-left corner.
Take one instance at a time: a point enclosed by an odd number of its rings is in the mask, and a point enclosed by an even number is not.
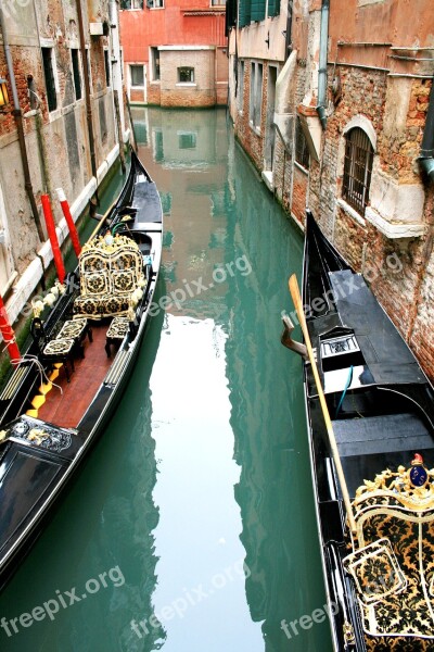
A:
[[[291,276],[289,285],[290,285],[291,297],[294,302],[295,310],[297,312],[299,325],[302,327],[303,336],[305,338],[307,354],[309,356],[310,365],[311,365],[311,368],[314,372],[315,384],[316,384],[317,390],[318,390],[318,398],[319,398],[319,402],[321,404],[322,415],[323,415],[324,422],[326,422],[327,434],[329,436],[330,448],[332,451],[334,465],[336,467],[337,477],[339,477],[340,485],[341,485],[342,497],[344,499],[344,504],[345,504],[345,510],[346,510],[346,513],[348,516],[349,527],[352,528],[352,531],[355,532],[356,531],[356,521],[354,518],[352,502],[349,500],[348,488],[346,486],[344,471],[342,468],[341,457],[340,457],[340,454],[337,451],[336,438],[334,437],[333,426],[332,426],[332,422],[331,422],[330,414],[329,414],[329,409],[327,406],[324,392],[322,391],[321,380],[319,378],[317,363],[315,361],[315,355],[314,355],[314,350],[312,350],[311,342],[310,342],[309,331],[307,329],[306,317],[305,317],[305,313],[303,310],[302,297],[299,294],[297,278],[296,278],[295,274],[293,274]]]

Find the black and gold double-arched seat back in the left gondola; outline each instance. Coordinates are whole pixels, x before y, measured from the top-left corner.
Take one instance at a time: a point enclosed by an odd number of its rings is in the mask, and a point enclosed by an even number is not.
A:
[[[102,237],[91,240],[81,250],[79,269],[75,314],[101,319],[126,315],[137,304],[144,285],[143,261],[130,238],[115,236],[108,244]]]

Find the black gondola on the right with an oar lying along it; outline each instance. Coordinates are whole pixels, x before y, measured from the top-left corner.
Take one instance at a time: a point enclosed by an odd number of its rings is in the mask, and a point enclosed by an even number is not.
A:
[[[309,211],[290,290],[333,648],[433,650],[433,387]]]

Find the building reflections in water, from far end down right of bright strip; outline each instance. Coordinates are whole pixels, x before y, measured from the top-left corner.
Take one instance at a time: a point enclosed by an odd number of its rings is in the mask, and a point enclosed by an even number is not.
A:
[[[281,311],[292,310],[288,277],[301,268],[303,240],[234,145],[224,111],[141,111],[141,158],[166,206],[166,293],[186,294],[168,312],[213,319],[226,335],[251,617],[261,624],[267,652],[320,650],[327,623],[302,630],[291,648],[281,629],[283,618],[324,604],[301,363],[280,344]],[[215,283],[216,268],[242,258],[248,274]],[[204,289],[196,292],[199,279]]]

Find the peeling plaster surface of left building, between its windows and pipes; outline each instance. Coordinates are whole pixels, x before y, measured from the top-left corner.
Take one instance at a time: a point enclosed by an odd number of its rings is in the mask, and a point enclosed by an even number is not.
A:
[[[102,171],[99,175],[100,181],[115,161],[116,155],[114,154],[118,151],[113,91],[112,85],[108,87],[106,85],[104,59],[104,49],[110,49],[108,59],[112,58],[112,43],[110,36],[90,37],[86,3],[84,3],[82,10],[85,38],[91,61],[92,124],[97,168]],[[89,1],[89,11],[92,22],[107,20],[108,0]],[[76,3],[66,0],[34,0],[25,7],[20,7],[15,14],[4,9],[3,12],[20,106],[24,114],[23,123],[34,195],[42,224],[40,195],[44,192],[51,195],[54,218],[60,224],[63,213],[55,196],[55,189],[62,187],[69,204],[73,205],[75,202],[77,209],[74,217],[77,218],[85,208],[84,200],[86,197],[90,197],[97,187],[91,170]],[[51,112],[48,110],[41,47],[52,47],[54,51],[58,106]],[[78,100],[76,100],[75,93],[71,48],[79,50],[81,99]],[[119,58],[117,57],[117,59]],[[34,78],[35,90],[40,100],[39,115],[26,115],[31,109],[28,97],[28,75]],[[0,76],[9,80],[2,40],[0,42]],[[41,243],[24,187],[10,85],[9,93],[10,103],[0,113],[0,184],[4,196],[5,229],[12,244],[13,265],[18,273],[16,283],[20,285],[20,277],[24,278],[28,275],[28,265],[36,268],[36,263],[39,264],[36,252],[41,248]],[[2,221],[4,222],[4,218]],[[61,240],[63,240],[63,236]],[[0,244],[1,247],[3,246]],[[51,254],[48,255],[48,260],[50,258]],[[38,283],[42,273],[39,267],[33,275],[33,280],[26,283],[24,293],[28,294],[28,291],[31,291]],[[16,293],[21,293],[21,290],[16,290]],[[20,301],[22,299],[23,297]],[[14,304],[10,311],[12,314],[17,312],[16,301],[16,297],[12,294],[9,300],[9,304],[11,302]]]

